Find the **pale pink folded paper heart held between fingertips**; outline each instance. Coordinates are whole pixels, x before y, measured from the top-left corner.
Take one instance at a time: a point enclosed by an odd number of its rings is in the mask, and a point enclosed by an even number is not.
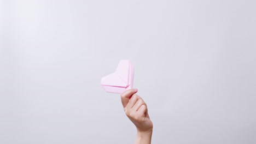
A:
[[[123,93],[133,86],[134,66],[131,61],[121,60],[113,74],[102,77],[101,86],[106,92]]]

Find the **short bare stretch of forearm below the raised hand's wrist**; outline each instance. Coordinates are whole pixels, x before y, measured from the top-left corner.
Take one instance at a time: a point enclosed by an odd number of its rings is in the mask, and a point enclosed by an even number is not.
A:
[[[137,131],[135,144],[150,144],[152,137],[152,130],[150,131]]]

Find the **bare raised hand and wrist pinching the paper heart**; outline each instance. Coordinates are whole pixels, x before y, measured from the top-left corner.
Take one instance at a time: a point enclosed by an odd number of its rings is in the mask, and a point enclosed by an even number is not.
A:
[[[149,144],[152,138],[153,123],[148,115],[147,104],[141,97],[135,94],[137,92],[137,88],[125,91],[121,94],[121,101],[126,116],[137,128],[135,144]]]

